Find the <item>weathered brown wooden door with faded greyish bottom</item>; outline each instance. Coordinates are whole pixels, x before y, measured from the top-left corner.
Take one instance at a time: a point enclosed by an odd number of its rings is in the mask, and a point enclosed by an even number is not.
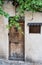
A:
[[[24,32],[24,21],[19,21]],[[24,60],[24,35],[16,27],[9,30],[9,59]]]

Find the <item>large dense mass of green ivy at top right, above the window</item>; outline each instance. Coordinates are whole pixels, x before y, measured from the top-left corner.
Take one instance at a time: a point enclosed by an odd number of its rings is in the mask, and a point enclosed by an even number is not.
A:
[[[38,11],[42,12],[42,0],[17,0],[19,3],[19,10],[24,11]]]

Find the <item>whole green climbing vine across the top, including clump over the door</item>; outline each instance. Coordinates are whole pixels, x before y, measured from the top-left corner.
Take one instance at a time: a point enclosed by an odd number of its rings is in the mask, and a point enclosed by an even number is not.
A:
[[[0,0],[0,15],[4,15],[5,17],[9,18],[9,14],[3,10],[4,2],[4,0]],[[15,15],[13,18],[11,18],[8,27],[15,25],[17,28],[19,28],[20,25],[17,23],[17,21],[21,14],[24,14],[24,11],[42,12],[42,0],[11,0],[11,2],[12,5],[16,7],[16,11],[19,12],[19,16]]]

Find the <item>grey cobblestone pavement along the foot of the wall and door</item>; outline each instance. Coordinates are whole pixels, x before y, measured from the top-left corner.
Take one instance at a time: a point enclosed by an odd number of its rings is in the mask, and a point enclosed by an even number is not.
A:
[[[42,63],[31,63],[22,61],[9,61],[0,59],[0,65],[42,65]]]

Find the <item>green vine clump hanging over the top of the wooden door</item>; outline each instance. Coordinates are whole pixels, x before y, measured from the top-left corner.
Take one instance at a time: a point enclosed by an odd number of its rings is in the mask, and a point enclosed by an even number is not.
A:
[[[9,25],[8,25],[8,28],[11,28],[12,26],[16,26],[17,28],[19,28],[19,23],[18,23],[18,21],[19,21],[19,16],[14,16],[14,17],[11,17],[11,18],[9,18]]]

